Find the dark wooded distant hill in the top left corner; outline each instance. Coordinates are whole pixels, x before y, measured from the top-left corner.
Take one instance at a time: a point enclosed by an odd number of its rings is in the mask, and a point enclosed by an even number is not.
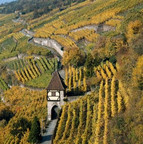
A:
[[[59,10],[66,9],[73,3],[77,4],[85,0],[17,0],[8,4],[4,4],[1,13],[13,13],[19,11],[21,13],[34,12],[33,17],[39,17],[50,12],[55,8]]]

